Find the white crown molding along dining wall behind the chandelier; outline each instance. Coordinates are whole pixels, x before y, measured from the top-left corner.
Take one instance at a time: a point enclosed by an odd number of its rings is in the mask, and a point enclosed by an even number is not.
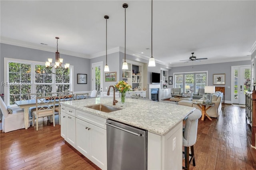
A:
[[[14,39],[2,37],[2,36],[0,38],[0,42],[9,44],[9,45],[16,45],[16,46],[20,46],[20,47],[39,49],[39,50],[49,51],[49,52],[56,52],[56,48],[53,48],[53,47],[48,47],[46,45],[40,45],[40,44],[35,44],[35,43],[30,43],[30,42],[24,42],[24,41],[20,41],[20,40],[14,40]],[[65,49],[60,49],[60,51],[62,54],[66,54],[66,55],[72,55],[75,57],[82,57],[82,58],[89,58],[87,55],[85,55],[83,53],[76,53],[76,52],[68,51]]]

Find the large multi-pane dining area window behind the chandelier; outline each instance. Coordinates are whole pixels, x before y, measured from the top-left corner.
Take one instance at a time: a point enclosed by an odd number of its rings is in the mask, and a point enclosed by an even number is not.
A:
[[[4,58],[4,65],[7,67],[4,69],[4,81],[7,82],[4,92],[8,105],[27,100],[29,93],[73,91],[73,66],[63,75],[55,75],[47,71],[42,62]]]

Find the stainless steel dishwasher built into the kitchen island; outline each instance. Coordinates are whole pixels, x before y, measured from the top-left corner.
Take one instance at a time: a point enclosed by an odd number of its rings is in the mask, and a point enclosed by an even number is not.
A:
[[[148,131],[107,119],[108,170],[146,170]]]

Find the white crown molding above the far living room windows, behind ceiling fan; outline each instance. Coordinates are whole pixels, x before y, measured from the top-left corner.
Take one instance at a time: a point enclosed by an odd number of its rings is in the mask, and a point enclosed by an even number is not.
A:
[[[203,65],[203,64],[214,64],[214,63],[227,63],[227,62],[234,62],[234,61],[245,61],[245,60],[251,60],[250,56],[246,56],[246,57],[236,57],[236,58],[229,58],[229,59],[218,59],[216,60],[208,60],[208,61],[204,61],[204,63],[198,63],[198,62],[194,62],[192,64],[192,62],[189,63],[179,63],[179,64],[172,64],[172,67],[182,67],[182,66],[190,66],[190,65]]]

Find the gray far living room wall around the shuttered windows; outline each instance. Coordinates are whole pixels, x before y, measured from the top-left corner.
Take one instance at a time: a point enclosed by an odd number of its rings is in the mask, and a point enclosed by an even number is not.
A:
[[[250,60],[246,61],[235,61],[235,62],[228,62],[228,63],[215,63],[215,64],[204,64],[204,65],[192,65],[184,66],[184,67],[172,67],[169,70],[169,76],[173,76],[173,73],[177,72],[190,72],[190,71],[208,71],[208,85],[213,85],[213,74],[226,74],[226,84],[220,85],[225,86],[225,101],[231,101],[231,66],[236,65],[250,65]],[[171,88],[173,85],[170,85]]]

